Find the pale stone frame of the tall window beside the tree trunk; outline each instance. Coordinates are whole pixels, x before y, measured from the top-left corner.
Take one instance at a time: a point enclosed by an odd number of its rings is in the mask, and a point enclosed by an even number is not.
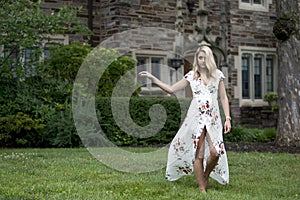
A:
[[[242,64],[244,55],[249,56],[249,98],[245,98],[243,95],[243,74]],[[261,98],[255,98],[255,83],[254,83],[254,59],[260,56],[261,67]],[[235,97],[239,98],[240,106],[253,106],[261,107],[266,106],[267,102],[263,101],[265,94],[271,92],[267,91],[267,60],[272,58],[273,70],[272,70],[272,84],[273,92],[277,91],[278,87],[278,61],[276,48],[258,48],[258,47],[239,47],[239,54],[235,57],[235,67],[238,70],[238,84],[235,88]]]

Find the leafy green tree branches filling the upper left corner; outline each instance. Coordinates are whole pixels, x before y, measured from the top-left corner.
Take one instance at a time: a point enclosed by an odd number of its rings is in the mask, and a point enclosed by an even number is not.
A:
[[[43,43],[50,42],[51,35],[91,34],[76,17],[79,8],[63,6],[57,12],[46,15],[41,9],[42,3],[41,0],[0,1],[0,45],[5,47],[0,57],[1,77],[24,77],[28,69],[26,66],[32,66],[32,62],[39,60]],[[25,49],[32,51],[31,63],[21,59]]]

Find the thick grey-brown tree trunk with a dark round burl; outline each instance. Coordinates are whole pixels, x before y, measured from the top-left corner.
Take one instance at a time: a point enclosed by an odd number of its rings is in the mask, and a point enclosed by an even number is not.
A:
[[[300,0],[277,0],[279,39],[277,143],[300,147]]]

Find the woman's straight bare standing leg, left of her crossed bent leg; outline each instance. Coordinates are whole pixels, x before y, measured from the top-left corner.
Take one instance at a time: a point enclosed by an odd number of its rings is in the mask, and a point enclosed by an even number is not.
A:
[[[201,154],[204,154],[205,133],[206,133],[206,131],[203,130],[203,132],[199,138],[199,141],[197,144],[195,162],[194,162],[194,174],[195,174],[196,180],[198,182],[198,187],[199,187],[199,190],[204,193],[206,192],[206,186],[205,186],[206,182],[204,179],[204,168],[203,168],[204,155],[201,155]]]

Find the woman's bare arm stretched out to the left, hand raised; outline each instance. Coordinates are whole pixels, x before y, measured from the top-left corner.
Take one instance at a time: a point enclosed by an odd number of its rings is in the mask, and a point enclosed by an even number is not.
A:
[[[185,88],[189,84],[188,81],[183,78],[174,85],[170,86],[147,71],[142,71],[139,73],[139,75],[149,78],[153,83],[169,94],[173,94],[174,92]]]

